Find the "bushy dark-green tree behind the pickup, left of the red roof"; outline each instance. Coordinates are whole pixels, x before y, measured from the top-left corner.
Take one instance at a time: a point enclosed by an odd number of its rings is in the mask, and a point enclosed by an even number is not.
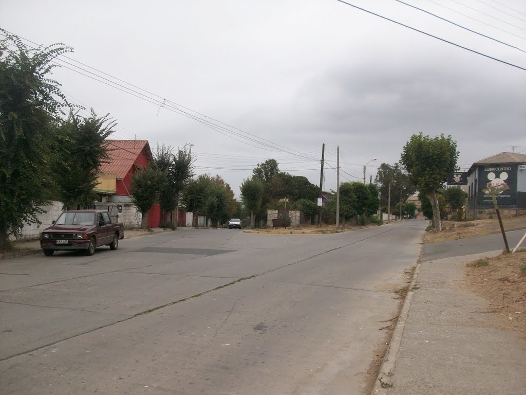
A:
[[[94,191],[100,166],[108,159],[108,147],[104,140],[113,133],[116,121],[109,114],[80,118],[70,113],[67,122],[59,127],[62,143],[57,146],[57,159],[50,163],[57,196],[70,209],[77,205],[92,206],[97,199]]]

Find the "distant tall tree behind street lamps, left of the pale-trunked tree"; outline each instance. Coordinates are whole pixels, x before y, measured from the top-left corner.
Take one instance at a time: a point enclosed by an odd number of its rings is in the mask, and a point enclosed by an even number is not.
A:
[[[409,175],[404,172],[398,163],[390,165],[382,163],[378,167],[375,183],[380,191],[380,204],[387,206],[389,202],[389,192],[391,193],[391,206],[395,206],[400,201],[400,191],[402,191],[402,202],[416,192],[416,188],[411,183]],[[389,188],[391,184],[391,188]],[[387,211],[386,211],[387,212]]]

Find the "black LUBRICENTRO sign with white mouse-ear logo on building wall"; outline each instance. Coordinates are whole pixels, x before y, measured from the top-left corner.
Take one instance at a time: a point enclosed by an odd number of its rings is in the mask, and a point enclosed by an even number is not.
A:
[[[497,204],[500,206],[517,205],[517,164],[490,164],[479,166],[477,187],[477,204],[493,206],[491,195],[485,195],[482,190],[490,186],[505,184],[509,187],[497,195]]]

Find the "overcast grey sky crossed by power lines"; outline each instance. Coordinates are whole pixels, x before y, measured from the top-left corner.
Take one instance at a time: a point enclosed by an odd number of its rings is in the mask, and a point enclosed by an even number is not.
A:
[[[523,0],[404,1],[522,52],[395,0],[349,3],[526,68]],[[319,184],[322,143],[325,190],[336,189],[337,145],[341,182],[362,180],[376,157],[374,179],[419,132],[451,134],[461,167],[526,152],[526,71],[336,0],[3,0],[0,26],[74,47],[67,56],[98,70],[66,59],[81,73],[135,85],[154,103],[66,68],[53,75],[71,101],[118,121],[114,139],[193,144],[197,173],[221,175],[237,196],[268,158]]]

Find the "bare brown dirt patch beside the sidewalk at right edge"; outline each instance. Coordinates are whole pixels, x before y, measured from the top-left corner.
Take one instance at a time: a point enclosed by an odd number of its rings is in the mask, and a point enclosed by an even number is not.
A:
[[[526,249],[468,263],[465,284],[489,300],[495,326],[526,336]]]

